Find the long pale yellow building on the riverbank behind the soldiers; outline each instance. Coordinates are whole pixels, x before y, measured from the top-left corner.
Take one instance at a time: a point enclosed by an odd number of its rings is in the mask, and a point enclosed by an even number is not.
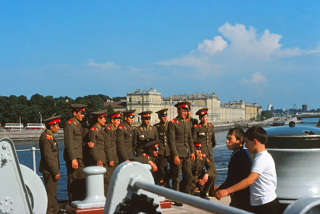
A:
[[[151,124],[159,122],[156,111],[168,108],[168,120],[177,116],[177,108],[174,105],[178,102],[188,101],[191,103],[191,117],[198,119],[195,113],[201,108],[208,108],[208,122],[229,123],[249,120],[257,115],[256,103],[244,103],[243,101],[233,101],[221,104],[215,93],[194,93],[184,95],[172,95],[163,98],[160,92],[150,88],[148,90],[136,89],[127,92],[127,109],[136,109],[133,126],[141,124],[138,114],[143,111],[152,111]]]

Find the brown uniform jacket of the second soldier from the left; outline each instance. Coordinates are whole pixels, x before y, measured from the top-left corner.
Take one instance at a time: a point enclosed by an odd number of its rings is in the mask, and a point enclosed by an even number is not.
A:
[[[71,118],[64,125],[64,151],[63,159],[66,162],[70,162],[76,158],[83,158],[83,141],[82,141],[82,126],[76,121],[75,118]]]

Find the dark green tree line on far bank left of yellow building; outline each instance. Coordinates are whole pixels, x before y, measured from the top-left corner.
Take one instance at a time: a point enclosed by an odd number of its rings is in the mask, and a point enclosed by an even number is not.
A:
[[[6,123],[21,123],[26,126],[28,123],[39,124],[42,116],[42,121],[54,116],[61,115],[62,126],[70,119],[71,107],[73,103],[87,105],[83,124],[91,123],[91,112],[108,110],[107,114],[114,112],[111,105],[104,106],[104,102],[107,100],[113,100],[115,102],[126,97],[113,97],[110,98],[107,95],[88,95],[84,97],[77,97],[72,99],[70,97],[54,98],[53,96],[42,96],[40,94],[34,94],[30,99],[26,96],[15,95],[0,96],[0,124],[4,126]],[[40,114],[39,114],[40,112]],[[107,119],[107,123],[110,121]]]

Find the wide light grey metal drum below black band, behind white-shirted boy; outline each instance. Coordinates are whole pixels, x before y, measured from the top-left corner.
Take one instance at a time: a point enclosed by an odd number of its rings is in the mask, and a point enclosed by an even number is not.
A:
[[[320,149],[267,149],[276,165],[280,200],[320,195]]]

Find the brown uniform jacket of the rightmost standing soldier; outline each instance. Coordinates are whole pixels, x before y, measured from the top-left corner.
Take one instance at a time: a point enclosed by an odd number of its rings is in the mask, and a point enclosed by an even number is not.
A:
[[[216,146],[216,137],[214,136],[213,125],[211,123],[207,123],[207,125],[208,130],[203,124],[192,126],[192,139],[193,141],[203,141],[202,153],[212,156],[212,148]]]

